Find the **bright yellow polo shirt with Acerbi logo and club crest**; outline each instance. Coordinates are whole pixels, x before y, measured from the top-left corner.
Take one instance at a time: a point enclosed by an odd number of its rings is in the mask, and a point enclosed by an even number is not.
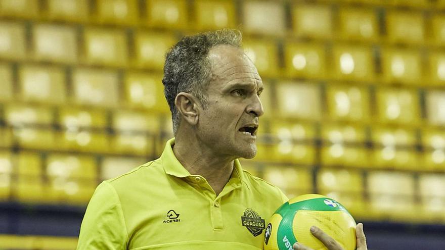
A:
[[[102,182],[85,212],[77,249],[262,249],[264,228],[287,201],[235,160],[224,189],[191,175],[170,139],[157,160]]]

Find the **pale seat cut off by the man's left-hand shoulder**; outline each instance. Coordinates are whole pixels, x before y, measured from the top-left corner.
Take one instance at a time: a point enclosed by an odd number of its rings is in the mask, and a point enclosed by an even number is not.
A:
[[[130,158],[130,157],[105,157],[101,165],[101,180],[108,180],[124,174],[144,163],[147,160],[144,158]]]

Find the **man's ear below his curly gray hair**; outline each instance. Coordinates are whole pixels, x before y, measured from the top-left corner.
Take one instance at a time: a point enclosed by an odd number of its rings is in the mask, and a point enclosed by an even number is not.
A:
[[[198,123],[198,102],[194,95],[181,92],[176,95],[174,105],[184,120],[190,125],[196,125]]]

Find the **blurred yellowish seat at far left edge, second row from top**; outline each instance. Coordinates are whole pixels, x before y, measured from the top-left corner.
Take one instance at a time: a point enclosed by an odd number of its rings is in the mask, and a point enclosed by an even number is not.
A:
[[[21,60],[26,57],[25,26],[0,21],[0,58]]]

